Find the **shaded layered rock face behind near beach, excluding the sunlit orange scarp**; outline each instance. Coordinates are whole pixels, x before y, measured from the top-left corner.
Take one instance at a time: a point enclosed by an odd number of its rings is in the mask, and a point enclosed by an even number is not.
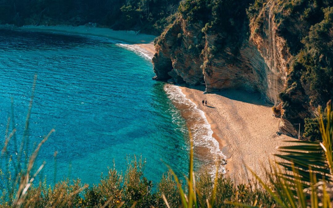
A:
[[[256,46],[244,39],[239,50],[214,49],[219,39],[214,32],[202,32],[202,24],[178,19],[161,35],[153,58],[155,79],[169,83],[203,84],[206,92],[246,89],[266,94],[265,61]]]

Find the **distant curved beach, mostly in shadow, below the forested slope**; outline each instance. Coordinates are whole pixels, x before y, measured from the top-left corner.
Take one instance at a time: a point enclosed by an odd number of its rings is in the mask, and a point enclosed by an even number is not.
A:
[[[127,44],[133,44],[140,48],[145,49],[148,52],[149,56],[155,54],[154,39],[156,36],[147,35],[135,31],[123,31],[123,30],[112,30],[109,28],[99,28],[99,27],[89,27],[89,26],[23,26],[16,28],[19,30],[26,31],[44,31],[44,32],[63,32],[68,34],[77,34],[77,35],[94,35],[99,37],[110,38],[115,41],[122,41]],[[147,53],[145,52],[145,53]]]

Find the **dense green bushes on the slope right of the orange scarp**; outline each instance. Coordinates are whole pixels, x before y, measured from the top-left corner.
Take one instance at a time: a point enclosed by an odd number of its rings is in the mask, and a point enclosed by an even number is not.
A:
[[[303,47],[295,56],[291,66],[292,72],[288,80],[290,87],[281,94],[282,101],[288,105],[286,108],[293,110],[294,113],[304,111],[302,109],[304,103],[309,104],[312,109],[319,105],[325,106],[333,96],[333,7],[331,6],[332,2],[329,5],[326,3],[315,8],[304,8],[300,17],[303,22],[308,20],[301,28],[307,32],[300,41]],[[303,94],[302,105],[298,105],[299,103],[293,99],[296,90]],[[297,105],[302,106],[301,109]],[[306,117],[312,115],[307,113]],[[319,138],[317,134],[317,139]]]

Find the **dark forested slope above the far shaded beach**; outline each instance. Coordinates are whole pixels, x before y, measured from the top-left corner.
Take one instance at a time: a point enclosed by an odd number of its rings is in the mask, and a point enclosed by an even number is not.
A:
[[[3,0],[0,24],[84,25],[160,34],[179,0]]]

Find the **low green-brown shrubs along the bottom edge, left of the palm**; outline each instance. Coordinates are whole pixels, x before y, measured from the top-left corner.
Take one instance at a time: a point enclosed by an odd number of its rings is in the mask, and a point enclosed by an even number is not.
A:
[[[46,183],[32,186],[21,205],[14,201],[1,201],[0,207],[181,207],[181,197],[176,182],[170,172],[162,176],[160,183],[153,183],[143,175],[145,162],[133,157],[123,175],[115,168],[109,169],[99,184],[88,187],[78,180],[65,180],[53,187]],[[207,171],[196,175],[197,199],[200,207],[206,207],[206,198],[211,198],[214,181]],[[215,207],[233,207],[225,201],[237,201],[244,204],[272,206],[272,197],[257,187],[241,184],[237,187],[231,179],[218,175],[216,180]]]

